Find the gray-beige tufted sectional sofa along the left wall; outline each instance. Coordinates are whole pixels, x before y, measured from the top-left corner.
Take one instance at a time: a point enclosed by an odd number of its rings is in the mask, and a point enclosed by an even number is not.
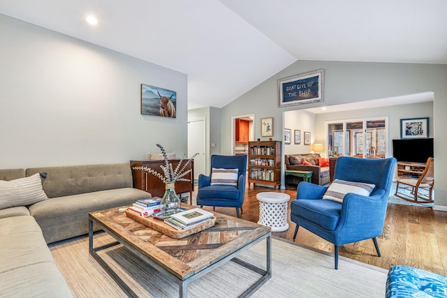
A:
[[[0,180],[0,297],[71,297],[47,244],[87,234],[91,211],[150,196],[126,163],[0,170]]]

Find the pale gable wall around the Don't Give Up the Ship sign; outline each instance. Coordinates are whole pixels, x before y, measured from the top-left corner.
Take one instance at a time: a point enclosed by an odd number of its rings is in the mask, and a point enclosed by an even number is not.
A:
[[[278,107],[277,81],[284,77],[307,73],[323,68],[324,101],[292,107]],[[434,209],[447,211],[447,65],[435,64],[386,64],[340,61],[297,61],[284,68],[262,84],[251,89],[221,109],[222,153],[230,154],[230,121],[238,114],[255,114],[256,119],[274,117],[273,139],[282,139],[282,113],[289,110],[303,110],[310,107],[356,103],[379,98],[393,98],[408,94],[433,91],[434,137]],[[352,117],[357,115],[351,112]],[[418,111],[414,111],[418,114]],[[411,117],[411,116],[410,116]],[[423,117],[423,116],[421,116]],[[256,126],[255,138],[261,130]],[[439,165],[439,166],[437,166]]]

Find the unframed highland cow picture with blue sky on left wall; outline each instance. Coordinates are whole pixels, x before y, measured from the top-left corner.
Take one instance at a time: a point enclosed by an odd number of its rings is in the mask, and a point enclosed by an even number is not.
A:
[[[141,84],[141,114],[176,117],[177,92]]]

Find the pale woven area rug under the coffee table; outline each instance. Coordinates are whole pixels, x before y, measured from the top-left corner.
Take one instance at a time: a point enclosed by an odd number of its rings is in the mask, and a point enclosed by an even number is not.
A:
[[[110,239],[105,233],[95,237],[101,241]],[[125,297],[89,255],[87,237],[65,241],[50,249],[75,297]],[[112,249],[103,258],[108,258],[139,297],[178,297],[177,285],[168,283],[126,248]],[[240,258],[265,269],[265,241],[242,253]],[[335,270],[332,254],[274,238],[272,278],[251,297],[384,297],[385,269],[339,258],[339,269]],[[227,262],[191,283],[188,297],[238,297],[259,277],[234,262]]]

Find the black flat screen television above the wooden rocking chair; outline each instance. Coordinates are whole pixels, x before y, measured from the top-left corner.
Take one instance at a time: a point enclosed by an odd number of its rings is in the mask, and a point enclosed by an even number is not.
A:
[[[397,161],[426,163],[433,157],[433,139],[393,140],[393,156]]]

